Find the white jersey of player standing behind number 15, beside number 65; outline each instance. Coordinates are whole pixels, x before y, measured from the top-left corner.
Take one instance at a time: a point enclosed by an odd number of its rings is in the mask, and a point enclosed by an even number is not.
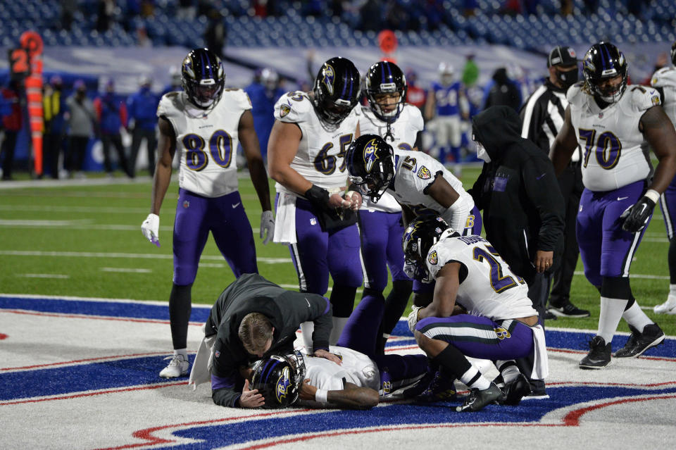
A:
[[[359,116],[359,132],[361,135],[378,135],[384,139],[385,134],[387,134],[387,123],[377,118],[368,106],[358,106],[355,109]],[[399,118],[390,125],[390,132],[392,132],[394,141],[391,141],[388,137],[387,143],[394,149],[413,150],[415,138],[418,137],[420,131],[423,131],[423,114],[415,106],[404,104]],[[385,192],[377,203],[373,203],[368,196],[365,196],[361,209],[396,213],[401,211],[401,206],[390,194]]]

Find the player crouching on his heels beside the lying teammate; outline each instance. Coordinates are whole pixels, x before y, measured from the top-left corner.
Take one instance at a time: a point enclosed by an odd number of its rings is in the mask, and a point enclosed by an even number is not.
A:
[[[542,380],[549,372],[544,330],[537,324],[526,283],[490,242],[459,235],[438,215],[415,218],[402,244],[416,279],[436,280],[432,303],[413,306],[408,327],[442,375],[470,387],[456,411],[478,411],[494,401],[518,404],[530,385],[514,360],[534,352],[529,375]],[[494,361],[504,392],[466,356]]]

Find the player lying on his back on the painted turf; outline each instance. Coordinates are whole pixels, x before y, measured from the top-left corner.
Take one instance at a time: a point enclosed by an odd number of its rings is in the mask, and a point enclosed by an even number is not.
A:
[[[401,396],[407,398],[415,396],[419,401],[454,399],[453,380],[435,377],[430,372],[427,356],[376,354],[377,327],[369,325],[374,323],[374,318],[382,318],[383,308],[382,304],[372,305],[350,316],[339,346],[330,347],[331,354],[341,361],[340,365],[334,360],[317,357],[316,351],[312,356],[302,349],[270,355],[256,362],[253,369],[243,366],[239,370],[242,379],[246,380],[242,397],[266,408],[289,406],[299,400],[310,401],[309,406],[368,408],[378,404],[379,393],[390,396],[397,389],[406,387]],[[368,330],[370,339],[365,339],[361,330]],[[212,368],[208,346],[205,339],[193,364],[191,384],[208,380],[208,371]],[[214,360],[213,350],[211,355]]]

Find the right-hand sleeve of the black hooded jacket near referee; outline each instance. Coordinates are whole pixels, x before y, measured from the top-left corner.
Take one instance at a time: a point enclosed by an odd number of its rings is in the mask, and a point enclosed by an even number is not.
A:
[[[537,250],[553,251],[563,235],[565,206],[551,161],[528,158],[523,164],[522,180],[540,217]]]

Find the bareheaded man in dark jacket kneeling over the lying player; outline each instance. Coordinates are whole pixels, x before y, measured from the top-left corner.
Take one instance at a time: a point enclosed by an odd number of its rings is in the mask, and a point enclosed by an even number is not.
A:
[[[306,321],[315,325],[314,356],[340,364],[328,351],[331,318],[331,304],[325,297],[287,291],[256,273],[244,274],[225,288],[211,308],[189,384],[211,380],[215,404],[258,408],[263,399],[249,389],[239,368],[266,354],[292,353],[296,330]]]

